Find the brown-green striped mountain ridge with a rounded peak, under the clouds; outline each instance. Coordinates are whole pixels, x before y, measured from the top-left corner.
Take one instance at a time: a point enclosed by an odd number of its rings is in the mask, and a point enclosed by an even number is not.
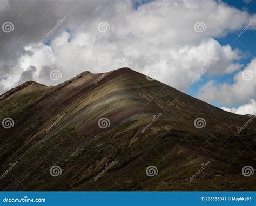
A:
[[[0,97],[0,188],[255,191],[254,118],[130,68],[28,81]]]

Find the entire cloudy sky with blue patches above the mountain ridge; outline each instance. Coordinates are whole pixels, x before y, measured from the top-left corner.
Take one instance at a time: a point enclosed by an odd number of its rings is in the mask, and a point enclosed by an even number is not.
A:
[[[0,0],[0,94],[129,67],[256,115],[255,9],[255,0]]]

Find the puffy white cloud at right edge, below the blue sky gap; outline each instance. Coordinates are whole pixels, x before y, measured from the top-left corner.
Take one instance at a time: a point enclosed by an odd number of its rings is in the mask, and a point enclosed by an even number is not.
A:
[[[234,83],[218,84],[209,81],[199,88],[198,98],[208,102],[219,102],[219,105],[246,104],[256,94],[256,58],[244,70],[234,75]]]

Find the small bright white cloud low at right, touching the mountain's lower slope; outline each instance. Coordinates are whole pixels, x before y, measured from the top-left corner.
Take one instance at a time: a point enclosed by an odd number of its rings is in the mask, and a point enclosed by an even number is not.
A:
[[[238,108],[227,108],[227,107],[221,107],[221,109],[224,109],[227,112],[232,112],[235,114],[253,114],[256,115],[256,102],[254,99],[251,99],[250,102],[248,102],[245,105],[241,105]]]

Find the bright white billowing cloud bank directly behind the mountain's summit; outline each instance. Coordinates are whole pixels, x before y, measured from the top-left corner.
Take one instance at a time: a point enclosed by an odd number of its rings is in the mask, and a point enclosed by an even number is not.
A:
[[[221,46],[213,39],[196,47],[181,46],[168,50],[156,48],[147,54],[146,59],[137,59],[134,55],[136,50],[132,48],[124,51],[118,45],[110,46],[102,39],[100,43],[92,42],[86,33],[77,33],[72,37],[72,42],[69,42],[70,37],[70,33],[63,32],[52,40],[50,46],[41,43],[25,47],[28,54],[22,56],[19,61],[22,70],[26,71],[30,65],[36,67],[37,72],[33,79],[42,81],[39,73],[44,66],[60,70],[64,80],[85,70],[98,73],[127,66],[144,74],[149,70],[155,70],[158,73],[158,80],[185,90],[204,67],[209,66],[208,73],[212,75],[232,73],[241,67],[240,64],[233,63],[234,59],[239,58],[238,53],[230,46]],[[97,53],[104,50],[106,51]],[[123,56],[120,57],[120,54]],[[86,67],[87,65],[90,67]],[[55,84],[57,83],[60,81]],[[49,75],[45,78],[44,84],[53,84]]]

